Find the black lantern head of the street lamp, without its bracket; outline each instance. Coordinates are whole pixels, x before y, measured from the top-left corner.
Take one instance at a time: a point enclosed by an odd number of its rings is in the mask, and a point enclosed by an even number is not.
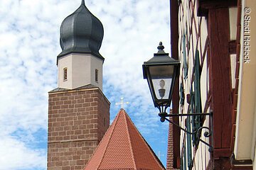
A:
[[[179,72],[180,62],[164,52],[164,45],[159,42],[158,52],[142,65],[144,79],[148,81],[154,106],[160,113],[166,113],[171,105],[174,82]]]

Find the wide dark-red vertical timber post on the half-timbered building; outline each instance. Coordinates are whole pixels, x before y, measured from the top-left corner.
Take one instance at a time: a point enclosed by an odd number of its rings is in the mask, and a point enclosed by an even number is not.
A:
[[[232,91],[229,55],[228,8],[209,9],[210,91],[213,109],[214,147],[230,149],[232,131]],[[221,157],[221,155],[219,155]]]

